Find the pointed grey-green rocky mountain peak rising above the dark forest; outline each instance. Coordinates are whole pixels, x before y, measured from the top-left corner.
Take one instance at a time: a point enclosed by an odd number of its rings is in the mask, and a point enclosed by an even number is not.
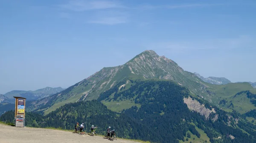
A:
[[[43,110],[45,114],[54,111],[67,103],[98,99],[101,93],[111,89],[124,79],[144,80],[159,79],[172,80],[177,84],[187,87],[192,95],[204,98],[214,105],[218,105],[222,97],[233,96],[244,90],[253,90],[250,84],[230,83],[226,85],[209,84],[202,81],[194,73],[187,72],[177,63],[164,56],[158,56],[153,50],[145,50],[127,63],[116,67],[104,67],[99,72],[84,79],[66,90],[29,103],[31,111]],[[128,80],[118,88],[129,88]],[[132,99],[131,99],[132,100]],[[131,107],[128,101],[123,101],[125,108],[118,108],[118,101],[105,101],[105,105],[111,109],[120,111]]]

